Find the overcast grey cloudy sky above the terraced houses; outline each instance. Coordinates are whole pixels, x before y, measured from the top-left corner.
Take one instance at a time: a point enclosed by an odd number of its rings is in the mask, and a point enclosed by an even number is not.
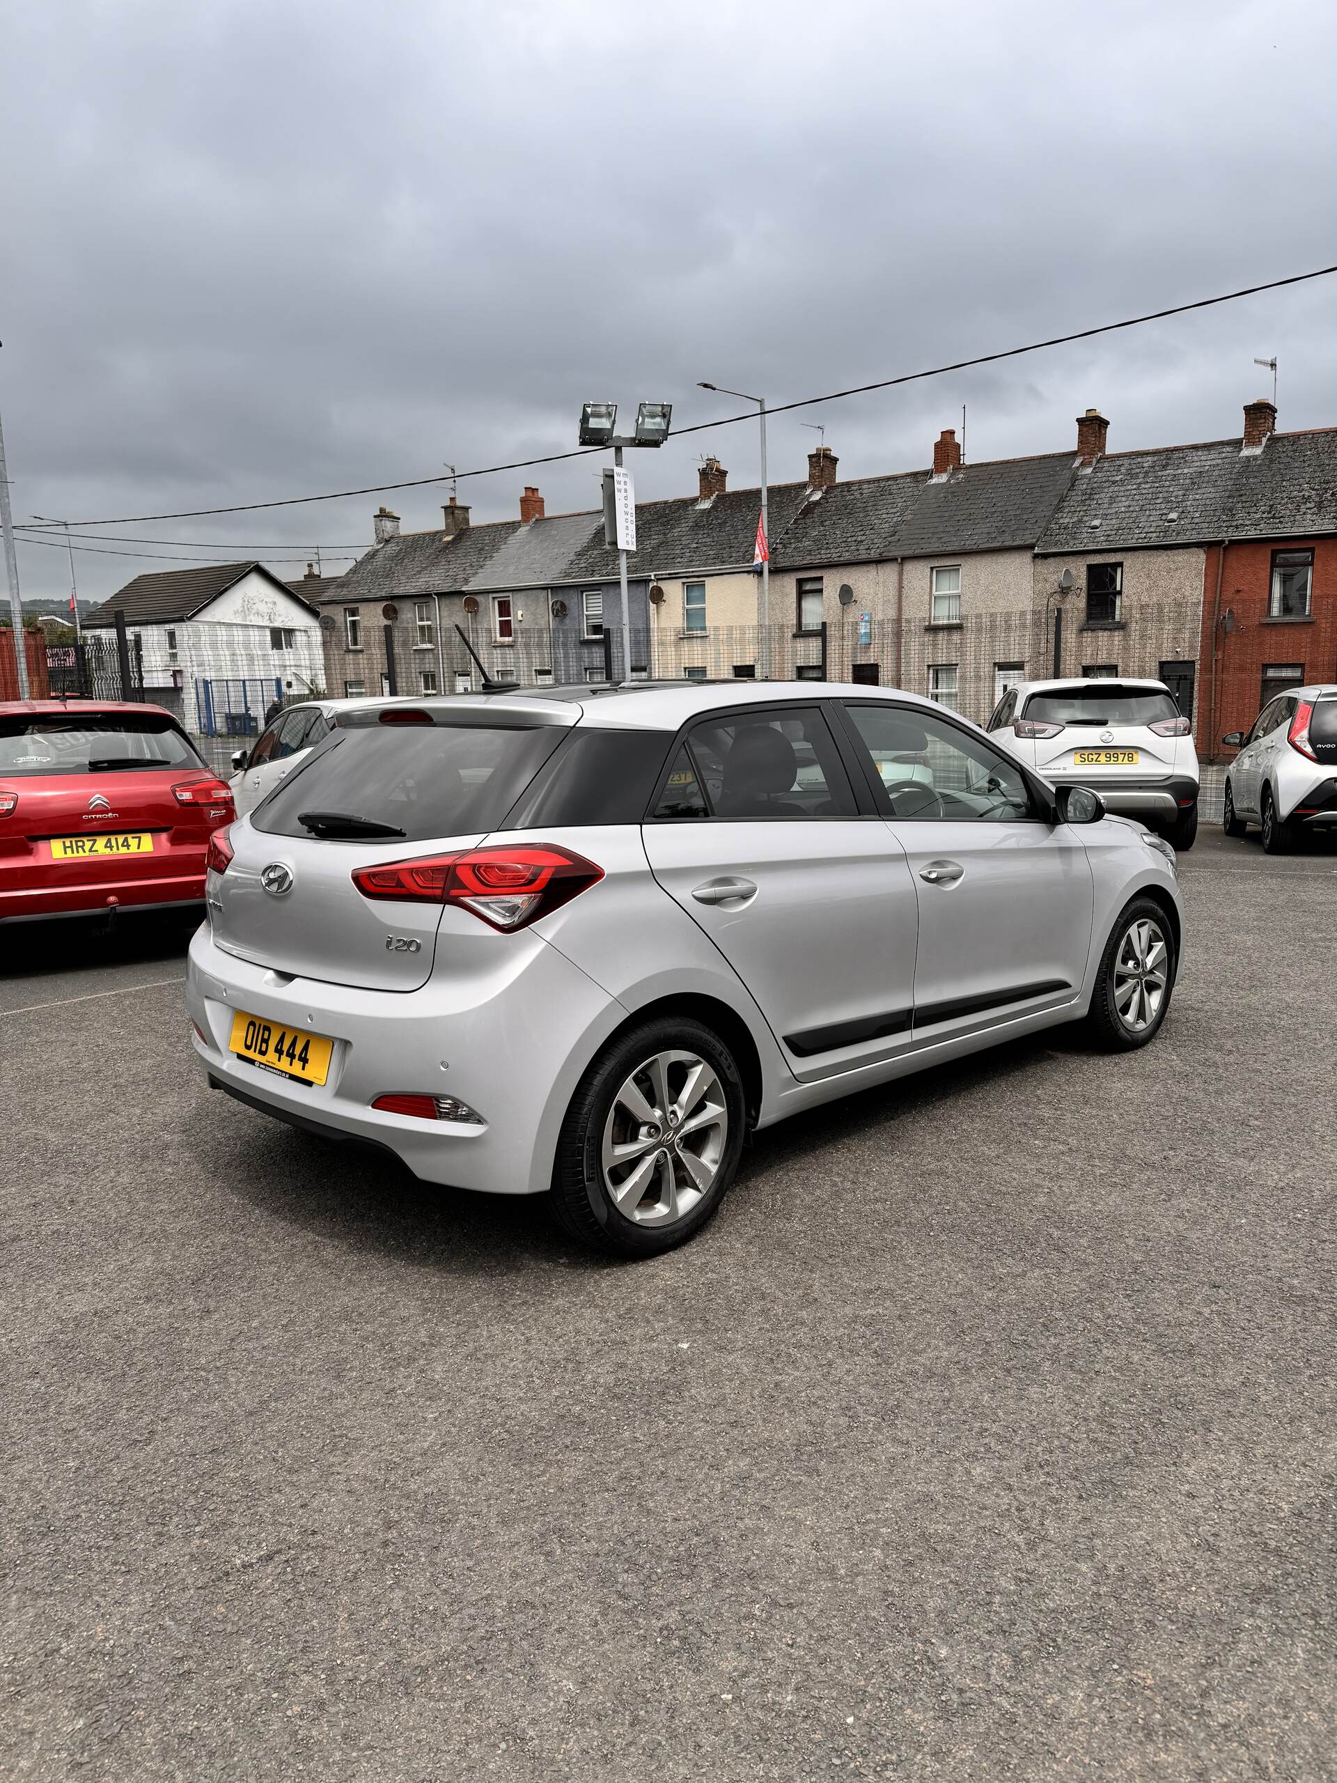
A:
[[[258,501],[562,451],[583,398],[679,424],[1337,260],[1328,0],[9,0],[0,408],[14,515]],[[1337,280],[836,403],[841,476],[1337,423]],[[772,426],[772,478],[816,440]],[[686,494],[756,428],[636,460]],[[460,485],[588,506],[590,462]],[[387,497],[406,528],[444,496]],[[262,555],[374,497],[102,528]],[[276,549],[255,551],[273,546]],[[132,549],[132,547],[123,547]],[[25,599],[68,587],[21,547]],[[80,594],[141,569],[86,555]],[[169,565],[166,565],[169,567]]]

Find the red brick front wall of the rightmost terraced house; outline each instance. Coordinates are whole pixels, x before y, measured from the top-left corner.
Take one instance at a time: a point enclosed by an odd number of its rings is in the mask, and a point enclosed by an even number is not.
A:
[[[1273,551],[1300,549],[1314,553],[1310,617],[1269,619]],[[1337,538],[1266,538],[1226,546],[1214,626],[1219,558],[1221,547],[1209,546],[1202,628],[1202,678],[1207,699],[1200,708],[1203,719],[1198,726],[1198,752],[1203,758],[1230,760],[1232,751],[1221,749],[1221,736],[1226,731],[1246,731],[1257,719],[1266,663],[1303,663],[1307,681],[1337,681]],[[1225,631],[1219,624],[1228,612],[1235,615],[1232,631]],[[1216,633],[1216,656],[1212,656],[1212,633]]]

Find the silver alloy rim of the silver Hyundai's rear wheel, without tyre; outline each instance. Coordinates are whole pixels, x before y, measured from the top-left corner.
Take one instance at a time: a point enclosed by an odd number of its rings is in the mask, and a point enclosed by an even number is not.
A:
[[[672,1225],[710,1195],[727,1141],[715,1066],[695,1052],[656,1052],[626,1079],[604,1122],[608,1198],[636,1225]]]

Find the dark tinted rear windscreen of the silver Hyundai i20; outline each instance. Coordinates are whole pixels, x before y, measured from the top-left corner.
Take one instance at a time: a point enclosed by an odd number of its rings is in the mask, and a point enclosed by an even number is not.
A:
[[[496,829],[565,735],[558,726],[340,726],[251,824],[271,836],[310,836],[303,811],[339,811],[401,829],[406,842]]]

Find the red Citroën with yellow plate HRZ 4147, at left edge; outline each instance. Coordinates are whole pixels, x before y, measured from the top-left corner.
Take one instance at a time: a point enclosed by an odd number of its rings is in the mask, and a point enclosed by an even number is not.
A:
[[[37,916],[187,913],[232,790],[169,711],[0,703],[0,927]]]

